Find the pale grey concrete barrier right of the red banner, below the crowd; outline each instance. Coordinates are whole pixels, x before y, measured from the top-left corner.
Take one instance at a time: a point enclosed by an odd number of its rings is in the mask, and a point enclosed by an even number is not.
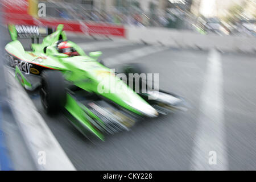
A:
[[[216,48],[221,51],[256,51],[256,38],[246,36],[201,35],[197,32],[161,27],[128,27],[126,38],[134,42],[160,44],[175,48]]]

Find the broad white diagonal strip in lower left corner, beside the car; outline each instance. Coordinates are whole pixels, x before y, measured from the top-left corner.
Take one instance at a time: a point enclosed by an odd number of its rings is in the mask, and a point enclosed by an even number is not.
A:
[[[14,73],[5,68],[5,77],[9,84],[11,109],[36,167],[47,171],[76,170],[27,93],[15,80]],[[45,164],[44,154],[46,154]]]

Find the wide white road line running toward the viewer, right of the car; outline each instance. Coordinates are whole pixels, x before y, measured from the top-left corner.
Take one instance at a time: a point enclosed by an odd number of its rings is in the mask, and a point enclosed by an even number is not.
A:
[[[222,82],[221,55],[213,49],[209,52],[201,95],[200,116],[192,153],[192,170],[228,169]]]

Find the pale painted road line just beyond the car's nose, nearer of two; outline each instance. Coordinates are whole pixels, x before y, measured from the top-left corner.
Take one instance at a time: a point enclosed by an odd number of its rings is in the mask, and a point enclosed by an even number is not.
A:
[[[111,64],[121,64],[127,63],[131,60],[138,59],[139,57],[151,55],[156,52],[164,51],[168,49],[168,47],[162,46],[147,46],[139,49],[134,49],[125,53],[120,53],[118,55],[108,57],[104,59],[104,63],[111,65]]]

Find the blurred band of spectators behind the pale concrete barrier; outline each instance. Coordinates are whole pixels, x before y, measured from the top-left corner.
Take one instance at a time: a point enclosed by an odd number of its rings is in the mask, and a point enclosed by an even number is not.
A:
[[[242,19],[242,7],[232,6],[228,10],[228,15],[218,22],[211,22],[210,19],[199,16],[196,17],[182,7],[171,7],[165,12],[158,12],[154,3],[150,4],[148,12],[143,12],[139,3],[128,7],[113,7],[111,11],[97,10],[90,7],[86,9],[84,5],[73,6],[71,3],[63,7],[51,8],[49,2],[47,17],[80,19],[93,22],[106,22],[114,24],[128,24],[130,26],[158,26],[167,28],[177,28],[194,30],[203,34],[213,32],[214,34],[243,34],[255,36],[255,19]]]

